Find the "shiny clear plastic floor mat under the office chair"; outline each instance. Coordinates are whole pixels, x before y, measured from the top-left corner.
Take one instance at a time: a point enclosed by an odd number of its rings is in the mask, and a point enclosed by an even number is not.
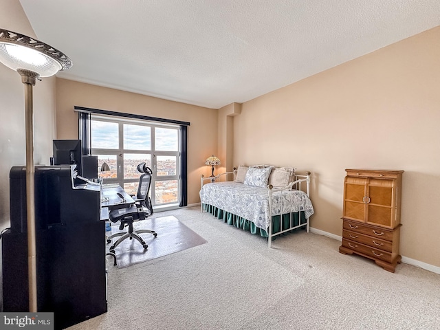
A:
[[[116,263],[118,268],[128,267],[136,263],[143,263],[144,261],[158,258],[159,256],[166,256],[197,245],[206,243],[206,240],[201,236],[190,230],[186,225],[181,223],[177,218],[168,217],[151,217],[142,221],[137,221],[133,224],[135,230],[149,229],[157,232],[157,236],[152,234],[142,233],[142,239],[148,245],[148,249],[142,248],[142,245],[135,239],[125,239],[115,248]],[[118,225],[111,226],[111,234],[116,232],[126,232],[119,230]],[[110,232],[106,232],[107,236]],[[113,239],[116,241],[118,237]],[[111,243],[107,244],[107,250]],[[109,256],[108,258],[111,259]]]

